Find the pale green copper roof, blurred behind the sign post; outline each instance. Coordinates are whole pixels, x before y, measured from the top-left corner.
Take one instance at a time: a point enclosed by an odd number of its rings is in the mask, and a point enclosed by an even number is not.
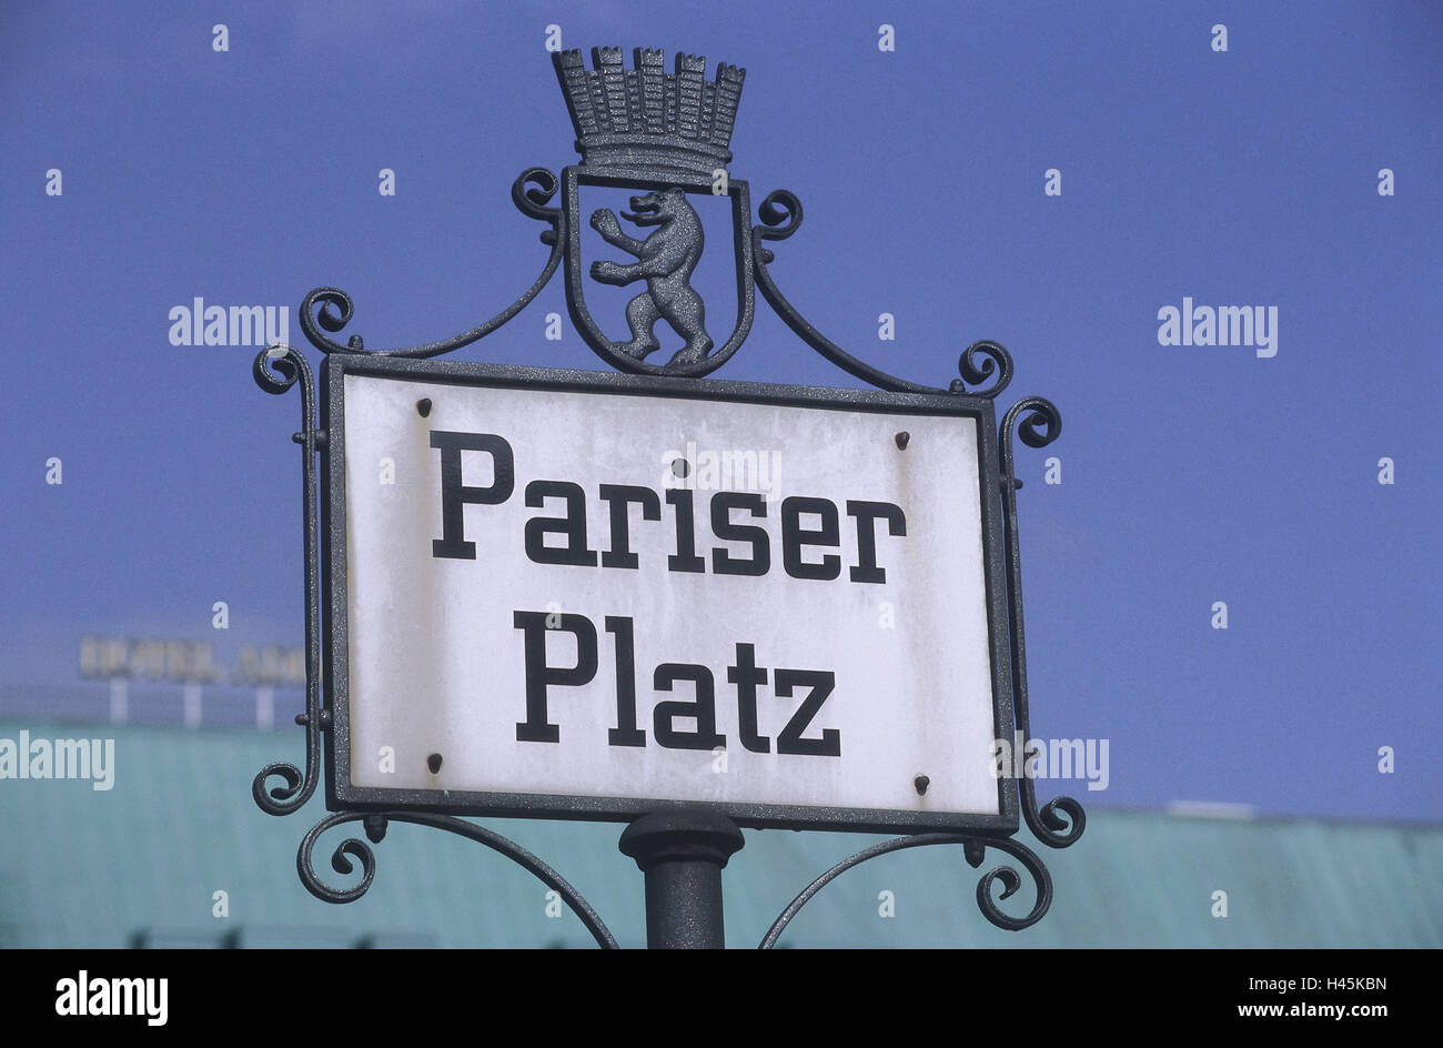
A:
[[[580,921],[548,915],[547,889],[472,842],[392,824],[356,902],[310,896],[296,847],[323,814],[267,816],[251,800],[266,764],[300,761],[296,733],[0,723],[0,738],[115,739],[114,788],[0,780],[0,944],[541,947],[590,946]],[[978,870],[960,847],[911,849],[848,870],[782,937],[795,947],[1443,947],[1443,826],[1180,818],[1095,807],[1053,852],[1051,912],[1006,933],[977,909]],[[616,850],[622,826],[488,820],[566,876],[622,946],[645,943],[642,875]],[[358,824],[333,830],[316,866]],[[747,830],[723,878],[727,943],[755,946],[814,876],[880,840]],[[983,869],[1006,856],[988,852]],[[229,915],[212,915],[227,892]],[[1003,904],[1030,908],[1030,883]],[[1227,892],[1225,918],[1214,892]],[[890,907],[886,892],[890,892]],[[885,917],[890,909],[895,915]]]

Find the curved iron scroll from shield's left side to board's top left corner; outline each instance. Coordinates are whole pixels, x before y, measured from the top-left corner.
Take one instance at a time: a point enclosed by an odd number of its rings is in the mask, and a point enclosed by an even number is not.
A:
[[[541,243],[551,245],[551,254],[547,257],[541,276],[527,289],[525,294],[485,323],[476,325],[455,338],[427,342],[426,345],[410,346],[407,349],[367,349],[359,335],[352,335],[346,345],[341,345],[326,338],[320,329],[325,328],[332,333],[341,331],[351,323],[355,306],[351,302],[351,296],[339,287],[317,287],[300,303],[300,329],[306,332],[310,344],[323,354],[371,354],[375,357],[408,357],[413,359],[440,357],[485,338],[525,309],[541,289],[547,286],[547,281],[551,280],[551,274],[556,273],[557,266],[561,264],[561,253],[566,241],[561,235],[561,209],[545,206],[556,196],[558,188],[560,183],[556,175],[545,167],[528,167],[511,183],[511,201],[517,208],[524,215],[551,225],[550,230],[541,234]],[[338,309],[339,312],[336,312]]]

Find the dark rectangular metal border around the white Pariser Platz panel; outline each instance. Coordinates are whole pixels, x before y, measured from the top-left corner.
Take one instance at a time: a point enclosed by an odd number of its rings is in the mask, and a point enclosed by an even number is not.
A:
[[[781,407],[810,407],[853,411],[874,411],[895,416],[899,426],[909,419],[944,417],[975,423],[978,501],[981,505],[983,569],[988,622],[990,691],[993,696],[993,739],[1010,738],[1013,729],[1009,618],[1004,603],[1004,536],[997,489],[997,449],[993,404],[986,397],[962,394],[873,393],[833,390],[802,385],[771,385],[726,380],[688,380],[589,372],[550,368],[506,367],[470,362],[431,362],[413,359],[374,359],[330,357],[322,364],[322,417],[328,433],[322,455],[320,488],[325,495],[322,536],[326,556],[322,562],[320,583],[326,595],[323,634],[328,641],[326,710],[329,712],[330,745],[326,759],[326,804],[332,810],[436,811],[459,816],[491,817],[560,817],[589,820],[632,820],[652,811],[693,807],[683,801],[644,800],[635,797],[570,797],[560,794],[466,792],[436,788],[405,790],[362,787],[351,778],[351,690],[349,690],[349,547],[346,521],[346,447],[345,447],[345,380],[348,375],[416,381],[426,384],[427,398],[440,396],[431,390],[455,384],[463,388],[522,388],[556,390],[587,394],[633,394],[652,398],[704,400],[707,403],[747,403]],[[896,449],[893,447],[893,452]],[[1017,790],[1013,780],[997,780],[996,814],[958,814],[947,811],[846,808],[795,804],[709,803],[704,807],[722,813],[739,826],[755,829],[814,829],[864,833],[954,831],[1004,833],[1017,831]]]

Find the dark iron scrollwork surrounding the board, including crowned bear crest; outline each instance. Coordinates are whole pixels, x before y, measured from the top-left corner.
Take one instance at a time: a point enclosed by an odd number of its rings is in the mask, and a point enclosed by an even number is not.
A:
[[[567,306],[583,338],[612,367],[622,371],[651,374],[670,378],[701,378],[729,359],[746,339],[755,306],[753,289],[776,310],[778,316],[807,345],[835,367],[870,385],[890,393],[951,394],[994,400],[1013,377],[1013,362],[1009,352],[990,341],[973,342],[958,358],[958,378],[949,385],[932,387],[890,375],[846,352],[835,342],[814,328],[801,312],[781,293],[769,271],[775,253],[766,241],[782,241],[792,237],[802,222],[802,205],[798,196],[785,189],[771,192],[758,208],[759,222],[750,225],[747,188],[745,182],[732,180],[730,191],[717,189],[719,175],[727,176],[732,153],[730,136],[733,117],[740,98],[743,69],[720,65],[714,84],[703,88],[706,59],[684,56],[678,61],[672,77],[662,69],[661,52],[636,52],[636,68],[622,68],[619,49],[597,49],[593,55],[597,68],[586,71],[579,52],[561,52],[553,62],[567,98],[567,107],[577,130],[577,144],[583,163],[567,167],[563,180],[545,167],[524,170],[511,186],[511,199],[528,218],[545,222],[548,228],[540,234],[543,244],[550,247],[545,266],[527,292],[492,316],[489,320],[449,339],[401,349],[368,349],[359,335],[351,335],[345,344],[330,338],[342,332],[354,316],[355,307],[349,294],[336,287],[317,287],[303,300],[300,328],[309,342],[323,354],[367,354],[377,357],[431,358],[470,345],[492,333],[527,305],[551,280],[563,261],[567,263]],[[635,88],[635,91],[632,91]],[[703,113],[706,108],[706,113]],[[584,167],[584,170],[583,170]],[[610,211],[593,214],[592,225],[605,241],[638,257],[638,266],[615,261],[597,261],[587,271],[593,280],[609,284],[628,284],[646,279],[648,292],[639,294],[628,307],[631,341],[615,344],[590,320],[584,306],[580,261],[580,221],[577,212],[576,186],[586,179],[587,185],[618,188],[641,185],[652,192],[633,198],[635,215],[625,215],[638,225],[655,225],[662,211],[662,201],[671,205],[670,221],[696,218],[685,205],[685,192],[727,193],[733,199],[733,248],[737,268],[737,322],[724,345],[713,351],[703,319],[700,297],[690,287],[691,268],[696,266],[704,238],[700,225],[677,235],[681,261],[671,268],[644,267],[641,261],[652,254],[657,244],[625,235]],[[723,178],[720,185],[726,185]],[[566,189],[563,206],[553,206],[557,192]],[[657,218],[657,221],[652,221]],[[638,221],[639,219],[639,221]],[[690,219],[687,219],[690,222]],[[688,227],[690,228],[690,227]],[[678,234],[678,224],[672,234]],[[655,235],[655,234],[654,234]],[[671,264],[671,263],[668,263]],[[670,281],[659,290],[652,283]],[[665,300],[658,300],[662,294]],[[649,296],[649,297],[648,297]],[[670,296],[670,297],[668,297]],[[658,319],[665,319],[687,344],[670,364],[661,367],[646,364],[645,357],[659,345],[654,345],[652,329]],[[325,709],[320,694],[320,567],[319,567],[319,523],[317,523],[317,462],[319,449],[326,445],[326,433],[316,426],[316,384],[304,357],[291,346],[268,346],[257,355],[253,367],[255,383],[271,394],[290,390],[297,381],[302,387],[302,430],[294,440],[303,449],[303,498],[304,498],[304,585],[306,585],[306,710],[296,717],[306,730],[306,761],[302,771],[293,764],[270,764],[253,781],[253,795],[257,805],[274,816],[290,814],[303,807],[320,780],[322,733],[329,730],[330,710]],[[1000,475],[1004,518],[1006,560],[1006,605],[1009,644],[1012,654],[1012,689],[1016,729],[1027,738],[1027,676],[1026,642],[1022,618],[1022,572],[1017,553],[1016,489],[1022,482],[1013,468],[1013,436],[1030,447],[1045,447],[1061,433],[1062,419],[1058,409],[1042,397],[1026,397],[1017,401],[1003,417],[1000,426]],[[1026,758],[1023,765],[1026,765]],[[1082,805],[1071,797],[1058,797],[1040,808],[1036,791],[1027,775],[1020,775],[1019,804],[1022,817],[1038,840],[1049,847],[1068,847],[1085,829]],[[277,784],[278,780],[278,784]],[[341,875],[355,872],[361,865],[361,878],[349,888],[335,888],[322,882],[313,865],[313,850],[322,833],[348,821],[364,821],[369,843],[346,837],[332,852],[332,869]],[[566,899],[580,917],[596,941],[606,948],[615,948],[616,940],[592,907],[556,870],[501,834],[475,823],[450,816],[411,811],[355,811],[343,810],[322,818],[300,843],[296,868],[302,882],[316,898],[328,902],[349,902],[364,895],[375,876],[375,855],[371,844],[380,843],[388,821],[405,821],[456,833],[505,855],[530,870],[545,885]],[[1012,826],[1010,829],[1016,829]],[[1030,849],[1009,836],[918,833],[898,837],[867,847],[834,865],[811,882],[778,917],[766,937],[763,948],[776,944],[782,931],[801,908],[825,885],[853,866],[912,847],[932,844],[961,844],[965,860],[973,868],[981,868],[987,847],[1006,852],[1025,869],[1036,886],[1036,901],[1032,909],[1013,917],[1006,914],[999,902],[1012,898],[1022,886],[1022,875],[1014,866],[1000,865],[981,875],[977,883],[977,904],[983,915],[996,927],[1022,930],[1036,924],[1052,902],[1052,879],[1046,866]],[[1001,886],[994,892],[994,885]],[[717,911],[720,912],[720,909]],[[717,918],[720,921],[720,918]]]

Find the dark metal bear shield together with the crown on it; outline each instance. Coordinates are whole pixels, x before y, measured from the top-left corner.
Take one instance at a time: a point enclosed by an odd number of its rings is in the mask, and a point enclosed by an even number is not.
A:
[[[571,322],[618,370],[675,377],[714,371],[746,339],[755,306],[750,199],[746,182],[732,179],[726,166],[746,71],[723,62],[709,82],[704,58],[677,55],[668,74],[664,53],[645,48],[635,51],[633,69],[623,68],[620,48],[593,48],[592,69],[580,51],[557,52],[553,61],[582,153],[582,163],[561,173]],[[629,191],[629,211],[583,215],[583,186]],[[693,287],[707,250],[698,196],[727,196],[732,205],[737,310],[724,339],[716,312]],[[582,257],[583,222],[615,248],[609,257]],[[597,284],[632,293],[625,328],[619,309],[615,318],[597,310],[600,322],[592,313],[586,290]]]

